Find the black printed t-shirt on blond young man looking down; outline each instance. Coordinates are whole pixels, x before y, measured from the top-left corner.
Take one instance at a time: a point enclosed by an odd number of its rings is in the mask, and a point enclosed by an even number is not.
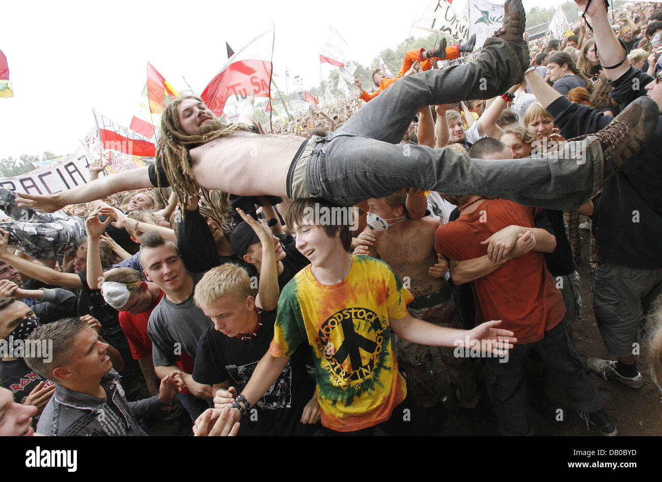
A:
[[[229,338],[214,330],[214,326],[207,328],[198,342],[193,379],[206,385],[230,379],[230,385],[241,393],[273,338],[276,312],[263,311],[260,316],[262,326],[250,340]],[[269,391],[254,406],[258,411],[244,415],[242,430],[244,424],[255,435],[310,435],[316,430],[316,425],[300,422],[303,408],[315,389],[314,380],[306,373],[307,352],[305,346],[297,349]]]

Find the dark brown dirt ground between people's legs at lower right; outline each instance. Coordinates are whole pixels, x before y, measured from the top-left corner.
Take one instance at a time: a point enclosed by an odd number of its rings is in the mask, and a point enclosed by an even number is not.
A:
[[[585,360],[589,357],[598,357],[614,360],[606,354],[602,337],[596,325],[592,309],[592,277],[589,264],[589,232],[581,230],[582,235],[582,262],[579,266],[581,277],[582,319],[573,330],[573,343],[579,355]],[[589,373],[589,378],[606,398],[605,410],[614,420],[620,436],[659,436],[662,435],[662,400],[659,391],[651,381],[650,365],[647,357],[648,346],[641,342],[641,354],[638,358],[638,368],[643,375],[643,386],[632,389],[616,381],[604,381],[598,375]],[[461,409],[457,405],[454,395],[449,393],[441,404],[438,418],[438,433],[446,436],[480,436],[498,435],[496,414],[484,390],[484,377],[479,363],[475,365],[475,376],[482,385],[481,402],[476,409]],[[449,391],[450,392],[450,391]],[[547,387],[553,400],[553,407],[563,405],[563,396],[558,387]],[[570,423],[557,424],[553,416],[544,415],[532,409],[530,416],[534,424],[536,435],[543,436],[586,436],[599,435],[595,428],[587,430],[586,423],[579,418],[576,412],[569,412]]]

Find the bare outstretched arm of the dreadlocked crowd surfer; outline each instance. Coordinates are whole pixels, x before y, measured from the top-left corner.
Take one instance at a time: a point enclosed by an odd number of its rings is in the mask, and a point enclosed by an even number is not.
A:
[[[138,168],[106,175],[96,181],[55,194],[21,193],[17,197],[17,203],[21,207],[30,207],[44,213],[54,213],[69,204],[88,203],[122,191],[154,187],[150,182],[148,170],[149,168]]]

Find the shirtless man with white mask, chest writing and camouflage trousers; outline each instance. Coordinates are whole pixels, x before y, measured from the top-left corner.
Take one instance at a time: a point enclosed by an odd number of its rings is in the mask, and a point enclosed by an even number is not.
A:
[[[410,219],[406,216],[406,194],[393,193],[380,199],[368,199],[368,224],[384,226],[385,230],[366,228],[358,236],[365,243],[354,254],[379,256],[402,279],[405,287],[414,295],[407,307],[412,316],[422,320],[461,328],[448,282],[444,279],[448,262],[438,257],[434,250],[434,233],[439,226],[433,217]],[[377,215],[380,220],[371,219]],[[408,281],[408,283],[407,283]],[[474,408],[478,403],[478,391],[471,374],[469,361],[455,358],[452,348],[414,344],[395,337],[397,360],[406,374],[407,387],[424,407],[432,407],[444,396],[440,372],[446,365],[455,387],[459,404]],[[430,373],[433,373],[430,383]]]

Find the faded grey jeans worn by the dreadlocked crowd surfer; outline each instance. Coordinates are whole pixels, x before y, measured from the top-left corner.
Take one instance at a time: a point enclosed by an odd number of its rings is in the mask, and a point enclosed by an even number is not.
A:
[[[402,77],[317,144],[308,158],[308,193],[350,206],[416,187],[577,209],[602,181],[598,142],[577,142],[559,158],[519,160],[478,160],[448,148],[396,144],[420,107],[490,99],[521,79],[514,50],[500,38],[488,38],[479,58],[468,64]],[[569,158],[587,144],[580,160]]]

